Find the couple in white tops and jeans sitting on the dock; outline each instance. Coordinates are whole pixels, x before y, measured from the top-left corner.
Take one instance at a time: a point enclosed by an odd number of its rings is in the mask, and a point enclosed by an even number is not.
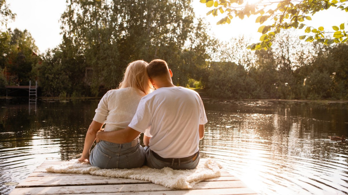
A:
[[[172,76],[164,60],[130,63],[119,89],[100,100],[79,161],[103,169],[195,169],[207,118],[198,93],[174,86]]]

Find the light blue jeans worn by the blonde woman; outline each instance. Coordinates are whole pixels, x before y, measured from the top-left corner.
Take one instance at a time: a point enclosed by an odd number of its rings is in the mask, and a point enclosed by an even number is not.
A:
[[[132,169],[144,165],[145,150],[140,142],[115,144],[101,140],[89,155],[89,163],[102,169]]]

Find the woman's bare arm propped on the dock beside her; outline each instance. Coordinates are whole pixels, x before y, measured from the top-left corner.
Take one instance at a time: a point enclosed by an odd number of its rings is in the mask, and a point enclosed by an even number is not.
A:
[[[96,121],[92,121],[90,123],[88,131],[86,133],[84,151],[82,152],[82,156],[78,159],[79,161],[84,161],[85,159],[89,159],[90,148],[92,147],[94,140],[97,135],[97,131],[99,131],[103,127],[103,123],[99,123]]]

